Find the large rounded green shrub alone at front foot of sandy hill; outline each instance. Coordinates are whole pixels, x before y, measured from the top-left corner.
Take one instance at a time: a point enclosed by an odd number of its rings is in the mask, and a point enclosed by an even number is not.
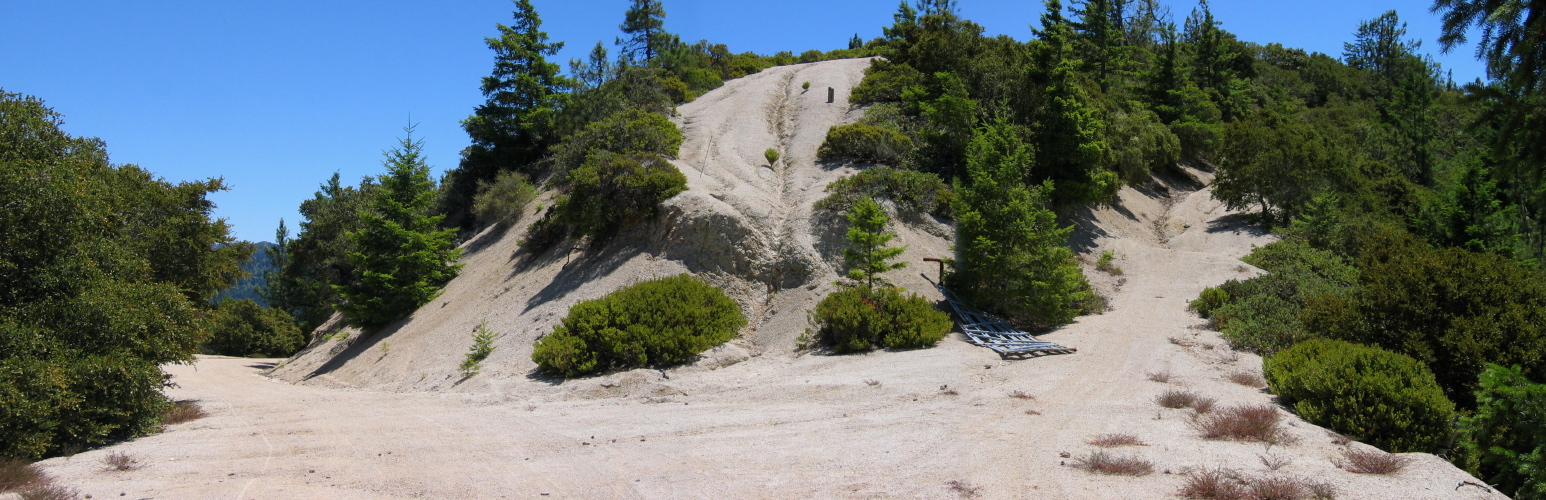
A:
[[[747,325],[724,291],[688,274],[625,286],[569,308],[536,341],[532,361],[549,373],[673,365],[724,344]]]

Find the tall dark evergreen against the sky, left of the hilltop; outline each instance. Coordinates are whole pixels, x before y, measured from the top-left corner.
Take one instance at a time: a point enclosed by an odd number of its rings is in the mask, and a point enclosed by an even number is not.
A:
[[[484,39],[495,53],[493,73],[482,79],[487,101],[462,121],[472,146],[461,164],[447,175],[451,184],[442,207],[453,224],[470,228],[467,211],[479,181],[499,170],[533,173],[532,164],[558,141],[553,135],[561,91],[572,84],[558,63],[547,62],[564,42],[549,42],[543,20],[530,0],[515,0],[515,22],[499,28],[498,39]]]

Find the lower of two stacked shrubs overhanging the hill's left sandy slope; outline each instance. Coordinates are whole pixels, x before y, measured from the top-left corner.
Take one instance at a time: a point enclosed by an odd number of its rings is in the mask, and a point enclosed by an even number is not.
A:
[[[686,190],[686,176],[654,153],[597,153],[569,172],[569,193],[553,209],[574,232],[606,237],[626,221],[654,217],[660,201]]]

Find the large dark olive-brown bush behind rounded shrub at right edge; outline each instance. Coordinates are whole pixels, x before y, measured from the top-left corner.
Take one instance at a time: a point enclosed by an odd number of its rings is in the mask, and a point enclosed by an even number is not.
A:
[[[1393,350],[1433,368],[1461,407],[1475,407],[1484,364],[1517,364],[1546,379],[1546,277],[1517,262],[1432,249],[1405,235],[1362,246],[1357,286],[1314,297],[1305,325],[1334,339]]]

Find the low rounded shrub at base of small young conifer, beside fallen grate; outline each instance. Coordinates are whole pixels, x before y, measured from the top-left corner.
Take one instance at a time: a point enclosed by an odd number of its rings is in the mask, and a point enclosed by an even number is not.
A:
[[[932,347],[951,331],[949,314],[895,286],[843,286],[810,313],[807,336],[836,353]]]

